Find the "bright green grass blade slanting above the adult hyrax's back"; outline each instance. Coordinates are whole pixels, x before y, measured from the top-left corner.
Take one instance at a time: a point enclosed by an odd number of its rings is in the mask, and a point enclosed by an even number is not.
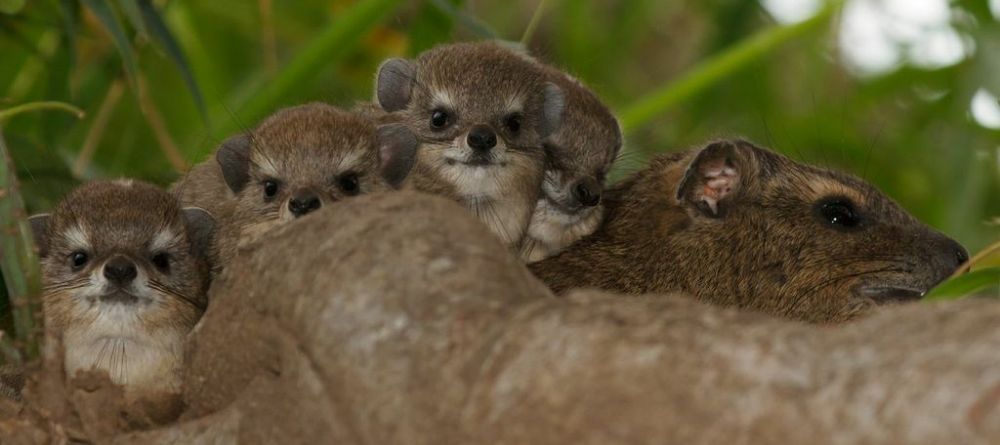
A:
[[[830,1],[823,10],[806,21],[761,31],[700,63],[680,79],[625,108],[620,115],[622,128],[628,133],[650,123],[657,115],[770,54],[782,44],[820,28],[839,10],[840,4],[840,1]]]

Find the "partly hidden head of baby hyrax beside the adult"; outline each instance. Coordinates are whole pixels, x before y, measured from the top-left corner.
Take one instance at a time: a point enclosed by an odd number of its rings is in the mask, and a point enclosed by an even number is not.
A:
[[[545,140],[543,198],[565,214],[595,210],[605,177],[621,150],[621,127],[587,87],[555,69],[548,71],[564,92],[566,109],[559,129]]]

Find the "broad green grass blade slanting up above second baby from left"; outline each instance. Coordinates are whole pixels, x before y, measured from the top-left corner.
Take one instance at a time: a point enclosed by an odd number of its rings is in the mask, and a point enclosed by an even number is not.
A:
[[[294,91],[300,84],[313,79],[324,66],[337,63],[358,47],[358,42],[402,0],[361,0],[346,9],[316,38],[240,107],[242,121],[256,122]],[[218,127],[217,139],[239,130],[238,121],[229,119]]]

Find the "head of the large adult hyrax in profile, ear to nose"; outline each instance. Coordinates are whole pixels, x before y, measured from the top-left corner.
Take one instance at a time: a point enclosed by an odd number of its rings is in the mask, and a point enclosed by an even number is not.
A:
[[[919,299],[968,259],[870,184],[721,141],[677,170],[669,267],[703,296],[807,320]]]

